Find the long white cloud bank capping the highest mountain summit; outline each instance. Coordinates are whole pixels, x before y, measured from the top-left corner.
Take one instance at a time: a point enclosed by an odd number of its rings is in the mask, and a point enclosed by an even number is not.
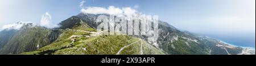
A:
[[[135,15],[137,10],[131,7],[118,8],[114,6],[109,6],[108,8],[104,7],[87,7],[86,9],[82,8],[81,10],[84,14],[111,14],[111,15]]]

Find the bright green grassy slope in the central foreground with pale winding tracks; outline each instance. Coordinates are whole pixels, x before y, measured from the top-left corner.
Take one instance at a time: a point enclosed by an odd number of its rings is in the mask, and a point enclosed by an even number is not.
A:
[[[89,28],[88,26],[84,26],[85,24],[79,24],[80,26],[74,27],[72,29],[76,30],[86,30],[89,32],[96,31],[95,29]],[[90,33],[85,32],[77,32],[72,29],[62,30],[62,34],[59,38],[51,45],[42,47],[36,51],[32,52],[23,52],[22,54],[31,55],[31,54],[54,54],[54,55],[115,55],[117,52],[124,46],[129,45],[130,43],[134,43],[123,51],[121,51],[121,55],[129,54],[129,55],[138,55],[140,54],[141,49],[141,41],[139,38],[131,37],[131,36],[109,36],[109,35],[101,35],[95,37],[76,37],[75,42],[73,44],[71,39],[72,35],[83,35],[90,36]],[[163,51],[156,49],[156,47],[148,44],[145,41],[142,41],[143,44],[143,53],[144,54],[164,54]]]

